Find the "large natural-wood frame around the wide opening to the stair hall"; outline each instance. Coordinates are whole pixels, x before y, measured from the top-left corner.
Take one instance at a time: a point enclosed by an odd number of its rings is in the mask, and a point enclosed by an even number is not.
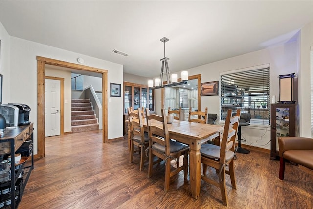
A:
[[[108,142],[108,70],[37,56],[37,157],[45,157],[45,65],[102,74],[102,141]],[[63,103],[63,102],[62,102]]]

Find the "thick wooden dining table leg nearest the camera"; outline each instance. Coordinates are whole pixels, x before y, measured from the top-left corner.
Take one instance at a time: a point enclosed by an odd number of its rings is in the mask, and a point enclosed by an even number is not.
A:
[[[200,141],[190,144],[189,153],[189,176],[190,176],[190,189],[192,197],[199,198],[200,182],[201,182],[201,154],[200,154]]]

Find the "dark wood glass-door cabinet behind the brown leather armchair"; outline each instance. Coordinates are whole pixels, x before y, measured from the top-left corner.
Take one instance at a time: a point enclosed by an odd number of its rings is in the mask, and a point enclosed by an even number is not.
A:
[[[299,136],[299,105],[270,105],[270,159],[279,157],[278,137]]]

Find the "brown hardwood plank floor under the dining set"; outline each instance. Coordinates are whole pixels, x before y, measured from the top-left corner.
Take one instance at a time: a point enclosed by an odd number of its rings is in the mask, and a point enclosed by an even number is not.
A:
[[[231,188],[226,176],[226,207],[219,188],[202,180],[200,198],[192,198],[183,172],[171,179],[170,190],[164,192],[164,164],[156,164],[155,173],[147,178],[147,163],[140,172],[137,153],[129,163],[126,139],[103,144],[101,131],[89,131],[45,141],[46,156],[35,162],[19,209],[313,208],[313,176],[286,163],[281,181],[279,161],[270,160],[269,154],[237,153],[237,189]]]

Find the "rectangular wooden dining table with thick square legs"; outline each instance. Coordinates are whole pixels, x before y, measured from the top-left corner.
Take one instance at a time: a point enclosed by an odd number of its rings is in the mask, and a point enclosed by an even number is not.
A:
[[[146,120],[144,128],[147,128]],[[156,125],[163,128],[161,122],[152,120],[151,125]],[[129,126],[130,127],[130,126]],[[190,147],[189,153],[189,177],[192,197],[199,198],[200,182],[201,182],[201,144],[214,138],[220,139],[220,134],[223,132],[224,126],[209,125],[188,121],[174,120],[168,124],[169,136],[171,139],[181,143],[188,144]],[[130,137],[130,134],[129,134]]]

